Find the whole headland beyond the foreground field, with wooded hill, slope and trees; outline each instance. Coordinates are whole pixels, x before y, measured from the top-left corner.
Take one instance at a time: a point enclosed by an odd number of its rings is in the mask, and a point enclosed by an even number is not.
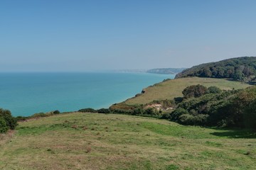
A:
[[[200,64],[110,109],[183,125],[256,129],[255,73],[256,57]]]

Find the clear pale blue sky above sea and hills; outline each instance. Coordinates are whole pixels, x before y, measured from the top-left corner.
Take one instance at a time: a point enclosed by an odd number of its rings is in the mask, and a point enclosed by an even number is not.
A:
[[[191,67],[256,56],[255,0],[1,0],[0,72]]]

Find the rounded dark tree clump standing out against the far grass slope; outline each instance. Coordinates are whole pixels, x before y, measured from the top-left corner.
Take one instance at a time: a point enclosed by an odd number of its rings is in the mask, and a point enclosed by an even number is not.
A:
[[[188,86],[186,87],[186,89],[182,91],[184,98],[191,98],[191,97],[197,98],[206,93],[207,93],[207,88],[200,84]]]

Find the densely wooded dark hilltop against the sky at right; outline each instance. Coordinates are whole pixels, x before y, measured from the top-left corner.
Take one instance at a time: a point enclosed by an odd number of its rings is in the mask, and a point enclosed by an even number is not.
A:
[[[251,81],[256,75],[256,57],[237,57],[220,62],[200,64],[185,69],[176,78],[212,77]]]

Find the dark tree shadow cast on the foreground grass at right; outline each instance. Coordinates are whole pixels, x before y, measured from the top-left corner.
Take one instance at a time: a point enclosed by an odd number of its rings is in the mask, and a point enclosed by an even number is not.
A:
[[[215,130],[223,132],[212,132],[211,135],[218,137],[228,137],[228,138],[245,138],[245,139],[255,139],[256,131],[255,130],[237,130],[237,129],[220,129],[214,128]]]

